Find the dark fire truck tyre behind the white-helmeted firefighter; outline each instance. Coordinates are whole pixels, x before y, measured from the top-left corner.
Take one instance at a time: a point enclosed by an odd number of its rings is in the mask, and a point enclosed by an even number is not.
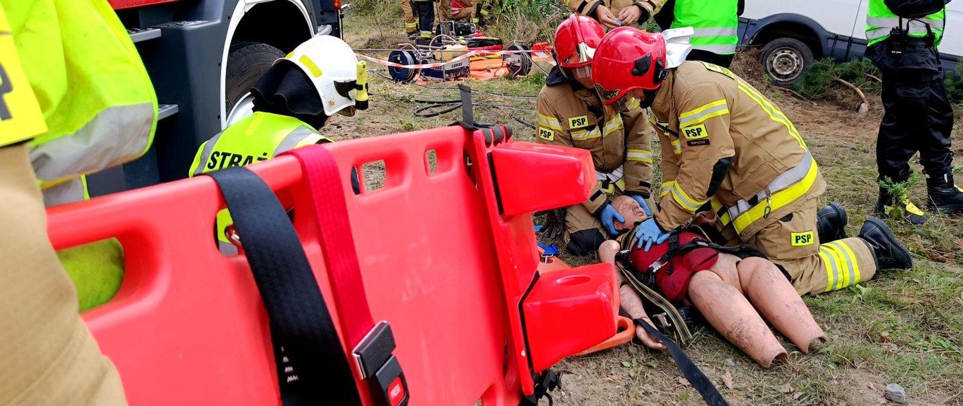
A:
[[[284,52],[261,42],[235,42],[227,53],[227,75],[224,84],[224,111],[230,112],[247,90]]]

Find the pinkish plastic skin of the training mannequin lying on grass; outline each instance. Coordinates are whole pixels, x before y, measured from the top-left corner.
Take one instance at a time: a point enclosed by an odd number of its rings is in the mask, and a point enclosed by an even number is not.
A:
[[[614,198],[612,206],[625,218],[624,222],[618,224],[620,231],[628,231],[648,217],[638,202],[625,196]],[[716,215],[712,212],[702,212],[696,216],[697,223],[712,226],[715,221]],[[625,237],[622,235],[615,241],[603,243],[599,247],[599,259],[613,263],[616,254],[624,246],[620,241]],[[667,245],[668,242],[662,244]],[[636,246],[632,246],[632,249],[641,250]],[[712,250],[696,248],[675,255],[685,260],[685,257],[699,256],[699,249]],[[694,273],[688,289],[684,291],[683,301],[690,302],[729,343],[738,346],[763,368],[769,368],[776,360],[786,361],[788,352],[769,330],[764,318],[803,354],[808,354],[814,343],[824,343],[826,337],[786,276],[761,255],[746,246],[735,251],[735,254],[710,253],[710,258],[716,256],[713,260],[715,264],[705,269],[691,269]],[[633,265],[644,269],[651,263]],[[619,287],[622,309],[631,317],[642,318],[652,324],[645,314],[638,292],[625,282],[621,274],[618,277],[623,281]],[[664,349],[662,343],[641,327],[636,327],[636,336],[650,348]]]

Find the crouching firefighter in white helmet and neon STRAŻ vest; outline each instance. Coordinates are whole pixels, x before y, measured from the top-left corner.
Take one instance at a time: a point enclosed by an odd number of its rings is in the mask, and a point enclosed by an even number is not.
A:
[[[277,60],[251,89],[254,114],[200,144],[189,176],[264,161],[289,149],[331,142],[318,133],[333,114],[368,108],[366,64],[340,38],[318,36]],[[357,190],[357,179],[351,174]],[[227,210],[217,216],[218,246],[232,254],[233,223]]]

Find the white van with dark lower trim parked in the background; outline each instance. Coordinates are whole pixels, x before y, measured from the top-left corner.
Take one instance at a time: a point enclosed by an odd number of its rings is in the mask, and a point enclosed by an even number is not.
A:
[[[866,51],[870,0],[746,0],[739,18],[740,45],[763,47],[761,62],[772,81],[792,85],[813,59],[848,61]],[[947,5],[940,57],[946,69],[963,56],[963,0]]]

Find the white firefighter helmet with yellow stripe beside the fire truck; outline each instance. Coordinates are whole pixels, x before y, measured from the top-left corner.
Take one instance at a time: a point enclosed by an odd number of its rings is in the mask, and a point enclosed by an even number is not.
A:
[[[297,64],[311,79],[325,114],[354,115],[358,60],[351,45],[341,38],[317,36],[298,45],[283,60]]]

